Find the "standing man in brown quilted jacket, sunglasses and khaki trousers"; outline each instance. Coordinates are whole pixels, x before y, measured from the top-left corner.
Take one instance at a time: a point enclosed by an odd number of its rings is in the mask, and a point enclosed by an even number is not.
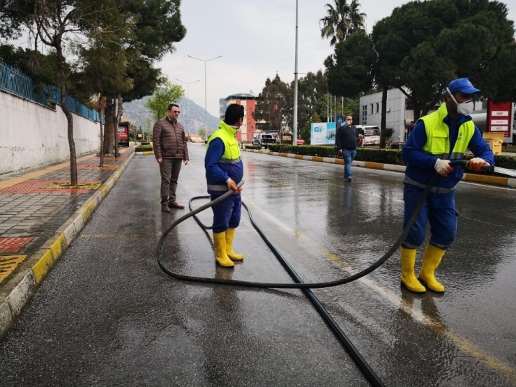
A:
[[[188,165],[188,146],[185,128],[177,118],[179,105],[172,103],[168,107],[167,117],[156,121],[152,133],[152,143],[156,161],[161,174],[161,211],[170,212],[170,208],[185,208],[176,202],[177,179],[181,171],[181,162]]]

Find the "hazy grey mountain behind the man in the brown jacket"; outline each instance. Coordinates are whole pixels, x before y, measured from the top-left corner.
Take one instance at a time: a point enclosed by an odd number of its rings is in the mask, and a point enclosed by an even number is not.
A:
[[[137,128],[142,128],[143,132],[147,131],[147,128],[150,126],[150,130],[152,132],[152,127],[155,122],[155,118],[153,117],[151,111],[147,109],[145,106],[149,97],[144,97],[141,100],[134,100],[128,103],[123,103],[123,116],[127,119],[132,119],[136,121]],[[190,121],[188,120],[188,99],[181,98],[179,103],[181,109],[181,114],[179,115],[179,122],[185,126],[185,131],[188,134],[188,131],[198,134],[199,129],[204,128],[204,107],[197,105],[197,103],[190,100]],[[165,117],[163,117],[165,118]],[[208,130],[213,132],[218,128],[218,123],[220,119],[218,117],[212,116],[208,113],[206,116],[206,121],[208,123]]]

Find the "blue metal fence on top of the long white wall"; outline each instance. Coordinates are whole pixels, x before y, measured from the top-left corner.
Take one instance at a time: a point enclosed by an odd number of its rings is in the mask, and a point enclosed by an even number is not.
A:
[[[36,87],[36,82],[30,77],[2,61],[0,61],[0,89],[45,107],[61,105],[61,91],[59,89],[54,86]],[[66,107],[79,116],[91,121],[98,121],[96,110],[88,109],[70,96],[66,96]]]

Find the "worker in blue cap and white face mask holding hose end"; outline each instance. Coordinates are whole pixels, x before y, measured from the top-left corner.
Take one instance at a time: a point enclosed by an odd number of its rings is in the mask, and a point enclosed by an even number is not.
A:
[[[443,284],[436,280],[434,271],[455,239],[458,216],[455,211],[455,185],[464,174],[460,167],[450,167],[450,161],[463,159],[464,152],[469,149],[475,156],[469,161],[469,169],[479,171],[485,164],[494,165],[493,152],[470,116],[473,112],[473,96],[480,93],[482,92],[473,87],[467,78],[450,82],[444,95],[445,102],[436,112],[416,122],[402,149],[402,158],[407,162],[403,227],[411,218],[430,179],[436,172],[442,176],[432,188],[416,223],[400,248],[401,282],[410,291],[444,291]],[[416,278],[416,249],[425,240],[427,220],[430,223],[431,236]]]

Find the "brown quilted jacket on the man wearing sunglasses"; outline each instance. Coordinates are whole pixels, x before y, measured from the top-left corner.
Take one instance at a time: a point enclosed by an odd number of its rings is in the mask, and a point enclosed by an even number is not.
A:
[[[152,132],[155,158],[181,158],[189,160],[185,128],[179,121],[168,118],[156,121]]]

